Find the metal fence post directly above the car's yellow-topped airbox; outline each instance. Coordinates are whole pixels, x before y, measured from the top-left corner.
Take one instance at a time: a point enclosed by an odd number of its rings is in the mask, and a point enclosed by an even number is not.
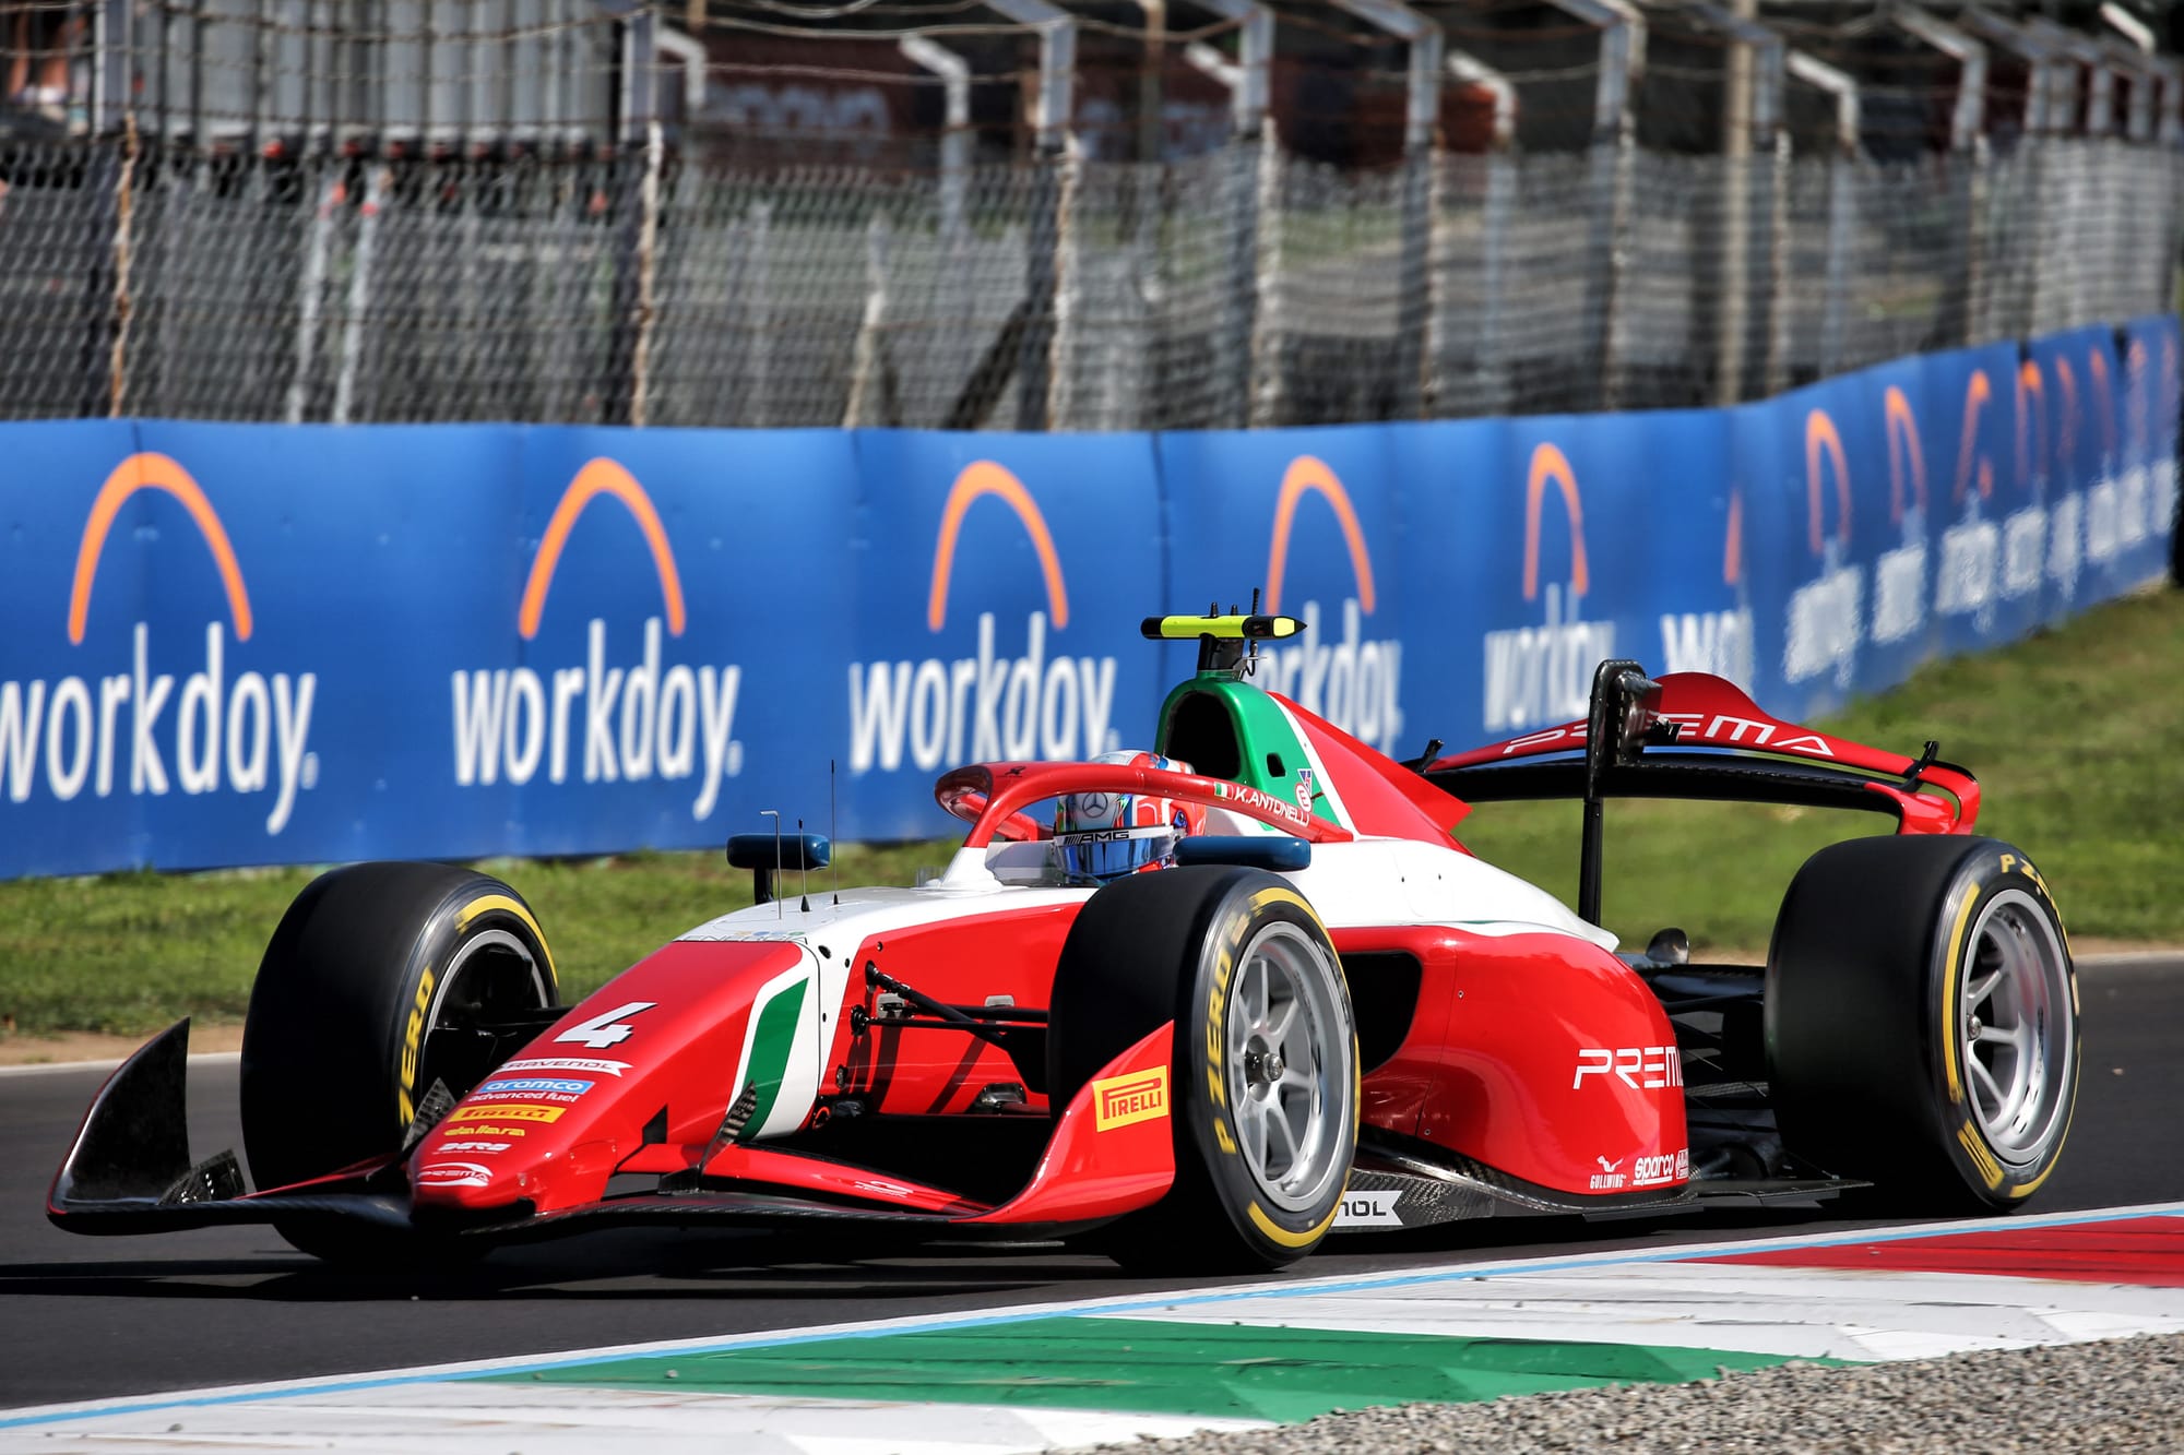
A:
[[[1227,87],[1230,146],[1225,168],[1227,269],[1221,286],[1221,321],[1214,328],[1216,404],[1212,424],[1251,424],[1254,341],[1258,334],[1258,214],[1265,201],[1260,164],[1267,133],[1267,66],[1273,61],[1273,11],[1258,0],[1206,0],[1206,9],[1236,28],[1236,63],[1195,42],[1184,59]]]

